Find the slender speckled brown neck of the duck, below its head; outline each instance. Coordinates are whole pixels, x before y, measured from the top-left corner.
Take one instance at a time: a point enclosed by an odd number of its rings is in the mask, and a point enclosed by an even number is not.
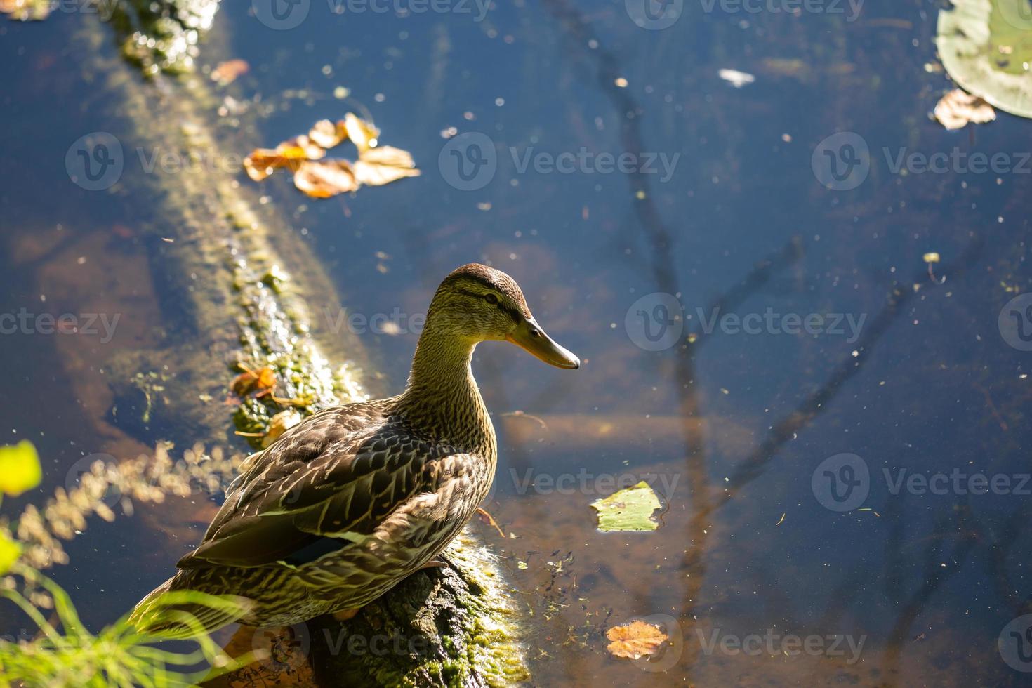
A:
[[[494,428],[471,367],[476,346],[438,332],[428,320],[397,411],[437,439],[493,458]]]

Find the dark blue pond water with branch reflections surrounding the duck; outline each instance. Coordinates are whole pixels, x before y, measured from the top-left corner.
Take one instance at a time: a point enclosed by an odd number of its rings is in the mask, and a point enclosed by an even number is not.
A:
[[[1027,685],[1032,641],[1007,629],[1032,612],[1032,302],[1011,302],[1032,291],[1029,123],[930,120],[952,88],[926,69],[938,3],[674,2],[663,30],[631,0],[334,4],[288,27],[226,3],[214,32],[251,67],[231,93],[271,105],[253,145],[361,108],[423,171],[268,191],[349,310],[396,326],[357,331],[383,389],[405,384],[413,316],[472,261],[584,361],[489,343],[474,362],[507,536],[478,529],[534,615],[535,685]],[[111,337],[0,336],[0,440],[33,439],[47,471],[5,511],[83,456],[146,450],[111,425],[103,366],[162,327],[134,231],[150,204],[65,168],[79,136],[124,130],[68,47],[89,21],[0,28],[0,314],[125,314]],[[588,504],[640,480],[660,527],[598,532]],[[88,623],[211,517],[149,512],[69,544],[55,576]],[[604,631],[639,618],[674,647],[608,656]]]

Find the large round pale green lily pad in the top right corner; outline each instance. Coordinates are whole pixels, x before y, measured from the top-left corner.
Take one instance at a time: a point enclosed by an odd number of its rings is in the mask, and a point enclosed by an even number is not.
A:
[[[936,44],[946,73],[968,93],[1032,118],[1029,0],[953,0],[939,12]]]

